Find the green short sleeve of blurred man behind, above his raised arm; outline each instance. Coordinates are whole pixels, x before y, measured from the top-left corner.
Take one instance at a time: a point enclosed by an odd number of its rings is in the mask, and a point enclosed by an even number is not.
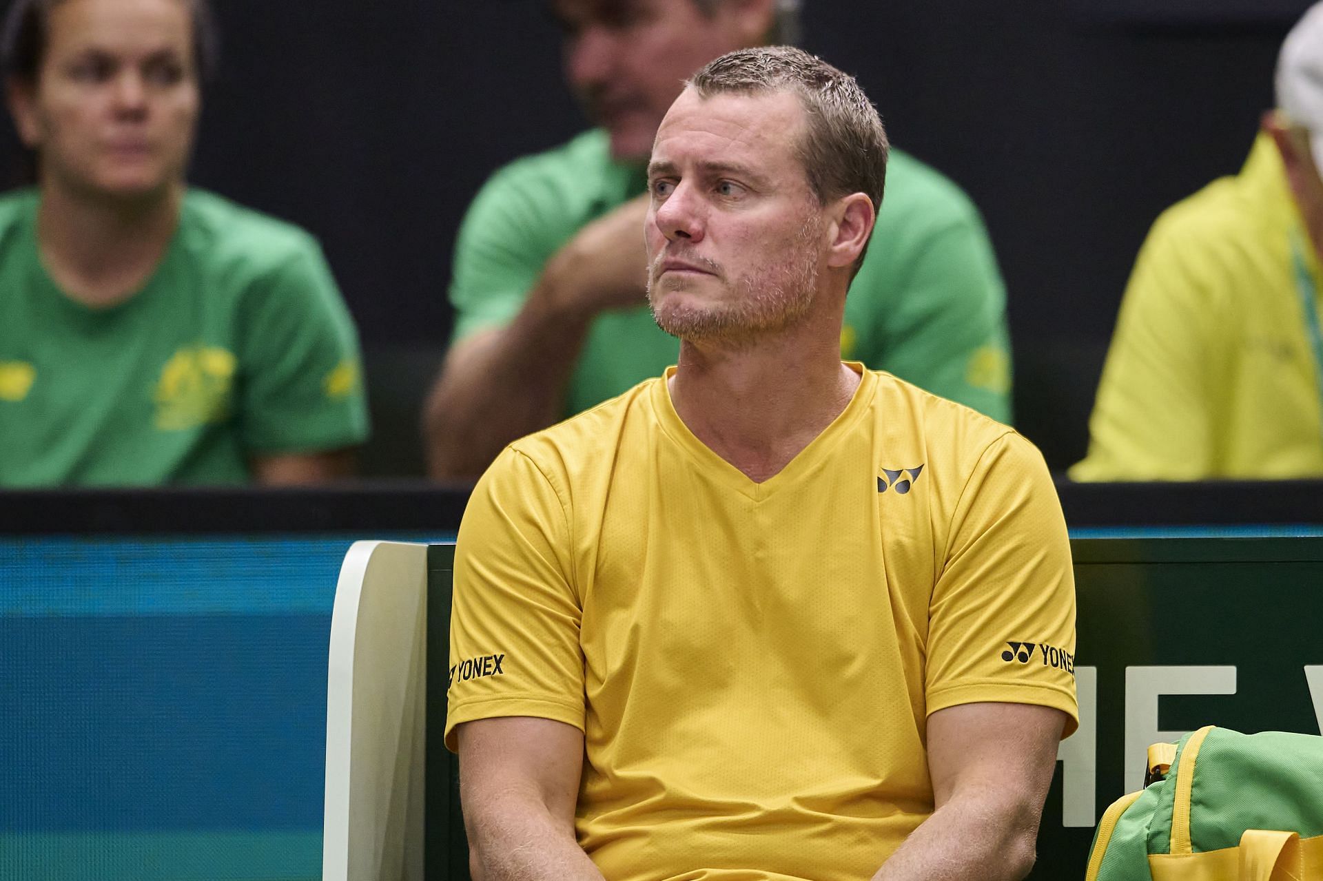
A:
[[[455,239],[450,304],[451,343],[501,327],[519,315],[546,261],[564,243],[548,238],[542,201],[527,169],[516,164],[492,176],[464,214]],[[569,228],[568,231],[573,231]]]

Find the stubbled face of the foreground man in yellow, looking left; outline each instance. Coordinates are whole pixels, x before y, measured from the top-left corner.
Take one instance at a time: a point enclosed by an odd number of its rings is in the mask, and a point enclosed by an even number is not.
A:
[[[791,93],[691,89],[658,131],[644,237],[648,302],[662,329],[744,344],[808,315],[826,258],[823,209],[795,146]]]

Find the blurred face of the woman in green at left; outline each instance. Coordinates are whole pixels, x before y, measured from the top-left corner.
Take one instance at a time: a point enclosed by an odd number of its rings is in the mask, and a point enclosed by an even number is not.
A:
[[[198,112],[183,0],[65,0],[50,11],[45,63],[11,91],[44,180],[135,197],[183,181]]]

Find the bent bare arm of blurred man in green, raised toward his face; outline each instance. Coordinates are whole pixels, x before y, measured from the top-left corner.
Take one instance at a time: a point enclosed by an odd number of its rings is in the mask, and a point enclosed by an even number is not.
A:
[[[507,443],[564,415],[566,386],[593,319],[644,302],[646,210],[646,197],[620,205],[536,267],[529,288],[509,290],[517,282],[505,279],[505,290],[488,298],[495,304],[474,303],[460,312],[459,321],[479,329],[456,327],[456,341],[426,403],[423,437],[433,478],[476,478]],[[464,276],[460,310],[470,306],[470,288],[499,287],[488,276],[508,273],[511,262],[516,273],[520,262],[528,263],[525,254],[503,254],[505,243],[471,238],[462,234],[455,258],[456,276]],[[497,267],[503,259],[505,266],[491,271],[470,265]]]

